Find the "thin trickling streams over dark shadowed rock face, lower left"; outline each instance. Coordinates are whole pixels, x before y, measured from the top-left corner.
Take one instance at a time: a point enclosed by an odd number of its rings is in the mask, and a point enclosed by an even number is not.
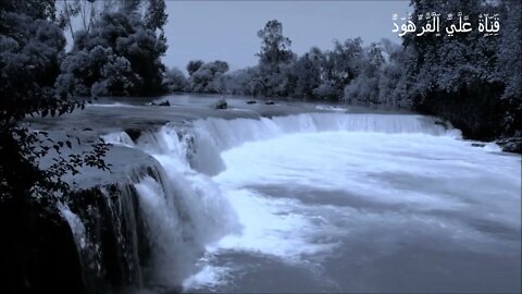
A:
[[[137,200],[132,184],[115,183],[78,191],[59,204],[76,241],[88,293],[144,285],[150,248],[148,220]]]

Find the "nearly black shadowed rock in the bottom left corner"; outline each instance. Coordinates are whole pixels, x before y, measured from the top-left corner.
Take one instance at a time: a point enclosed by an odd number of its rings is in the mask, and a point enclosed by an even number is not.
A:
[[[36,201],[0,203],[2,293],[86,293],[67,222]]]

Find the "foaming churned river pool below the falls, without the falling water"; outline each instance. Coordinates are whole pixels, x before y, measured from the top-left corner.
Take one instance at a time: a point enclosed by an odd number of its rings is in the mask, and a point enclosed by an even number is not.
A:
[[[241,230],[189,291],[519,292],[520,157],[451,135],[299,133],[222,154]]]

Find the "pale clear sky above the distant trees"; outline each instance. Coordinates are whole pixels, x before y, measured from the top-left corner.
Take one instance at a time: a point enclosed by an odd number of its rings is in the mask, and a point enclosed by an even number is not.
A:
[[[400,42],[391,33],[391,14],[411,11],[402,1],[201,1],[170,0],[165,25],[169,50],[163,58],[167,66],[185,69],[190,60],[223,60],[232,70],[256,65],[261,40],[257,32],[270,20],[283,24],[298,54],[312,46],[323,50],[333,40],[361,37],[364,45],[388,38]]]

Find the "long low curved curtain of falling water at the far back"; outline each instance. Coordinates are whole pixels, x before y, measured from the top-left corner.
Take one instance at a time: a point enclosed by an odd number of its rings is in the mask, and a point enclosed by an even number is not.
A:
[[[386,134],[458,135],[436,119],[413,114],[301,113],[272,119],[206,119],[194,122],[195,133],[219,151],[246,142],[283,134],[314,132],[372,132]],[[198,146],[198,148],[206,148]]]

